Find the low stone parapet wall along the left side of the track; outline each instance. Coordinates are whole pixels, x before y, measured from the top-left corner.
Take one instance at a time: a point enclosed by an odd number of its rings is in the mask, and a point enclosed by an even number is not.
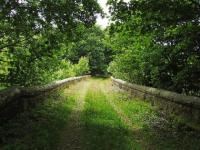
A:
[[[17,112],[26,110],[37,103],[37,97],[47,95],[54,90],[67,87],[90,76],[71,77],[36,87],[11,87],[0,91],[0,119],[10,118]]]

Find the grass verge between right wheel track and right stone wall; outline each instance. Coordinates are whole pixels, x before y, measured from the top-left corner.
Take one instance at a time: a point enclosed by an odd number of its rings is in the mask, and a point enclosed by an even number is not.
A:
[[[180,128],[182,123],[162,117],[149,103],[131,98],[127,93],[112,92],[109,98],[138,127],[135,137],[140,138],[143,149],[199,150],[198,132],[185,126]]]

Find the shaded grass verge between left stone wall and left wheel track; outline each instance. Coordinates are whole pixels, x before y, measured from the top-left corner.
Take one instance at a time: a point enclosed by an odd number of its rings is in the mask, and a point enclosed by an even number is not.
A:
[[[75,103],[63,91],[54,93],[30,112],[0,125],[2,150],[54,150]]]

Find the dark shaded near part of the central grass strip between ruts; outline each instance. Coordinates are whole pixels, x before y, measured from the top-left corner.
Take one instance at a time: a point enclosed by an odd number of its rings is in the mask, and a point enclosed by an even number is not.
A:
[[[140,150],[141,146],[134,133],[113,114],[99,109],[86,109],[83,112],[84,124],[82,141],[84,150]]]

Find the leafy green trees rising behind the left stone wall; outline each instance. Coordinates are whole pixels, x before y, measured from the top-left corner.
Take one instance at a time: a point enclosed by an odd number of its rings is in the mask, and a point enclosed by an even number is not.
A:
[[[33,86],[88,73],[88,59],[65,59],[77,29],[102,13],[95,0],[0,2],[0,86]],[[78,62],[80,59],[80,62]]]

